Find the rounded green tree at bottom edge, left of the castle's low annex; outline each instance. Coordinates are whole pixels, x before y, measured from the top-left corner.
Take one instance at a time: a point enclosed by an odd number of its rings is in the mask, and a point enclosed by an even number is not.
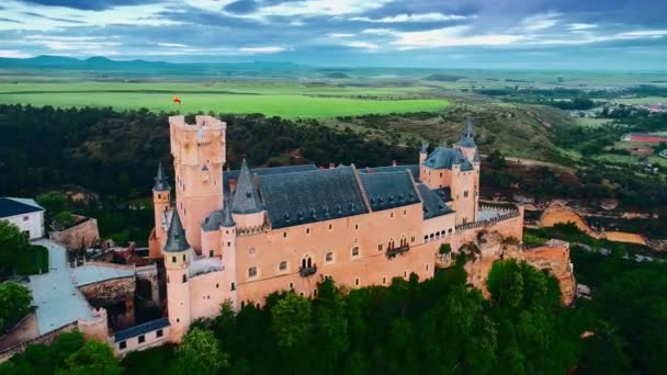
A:
[[[109,344],[100,341],[87,342],[83,348],[72,353],[61,370],[56,374],[67,375],[120,375],[123,373],[121,365],[113,355]]]

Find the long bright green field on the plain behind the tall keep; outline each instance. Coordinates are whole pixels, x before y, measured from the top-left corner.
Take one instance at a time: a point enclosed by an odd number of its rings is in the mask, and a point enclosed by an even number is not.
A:
[[[286,118],[437,112],[451,105],[442,99],[410,99],[428,90],[296,83],[4,83],[0,84],[0,103],[263,113]],[[173,93],[182,104],[172,103]]]

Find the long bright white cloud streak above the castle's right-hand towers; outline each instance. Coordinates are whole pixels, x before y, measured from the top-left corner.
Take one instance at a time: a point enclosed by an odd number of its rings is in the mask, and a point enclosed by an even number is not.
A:
[[[512,34],[479,34],[466,35],[470,26],[452,26],[422,32],[394,32],[396,41],[393,44],[399,49],[460,47],[460,46],[499,46],[509,45],[523,39],[521,35]]]

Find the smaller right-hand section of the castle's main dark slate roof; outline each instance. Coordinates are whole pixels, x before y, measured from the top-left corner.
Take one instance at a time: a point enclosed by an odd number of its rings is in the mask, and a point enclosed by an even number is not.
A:
[[[407,171],[362,173],[361,183],[372,211],[383,211],[419,202]]]

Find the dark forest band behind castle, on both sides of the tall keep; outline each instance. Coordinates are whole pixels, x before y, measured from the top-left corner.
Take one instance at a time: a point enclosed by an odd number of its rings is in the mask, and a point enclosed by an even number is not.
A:
[[[0,192],[34,196],[77,185],[102,196],[149,195],[157,163],[170,167],[167,113],[147,110],[0,105]],[[260,114],[222,116],[231,168],[287,162],[386,166],[416,161],[417,150],[365,140],[317,122],[295,124]],[[292,160],[290,159],[292,158]],[[171,175],[173,173],[168,171]]]

